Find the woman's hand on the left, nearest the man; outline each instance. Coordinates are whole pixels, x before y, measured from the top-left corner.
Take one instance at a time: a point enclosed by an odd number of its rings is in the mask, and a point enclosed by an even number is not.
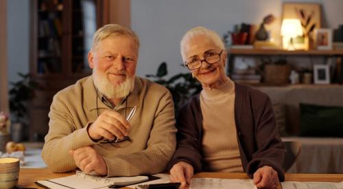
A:
[[[170,170],[170,181],[180,182],[180,188],[189,188],[193,174],[193,166],[187,162],[178,162]]]

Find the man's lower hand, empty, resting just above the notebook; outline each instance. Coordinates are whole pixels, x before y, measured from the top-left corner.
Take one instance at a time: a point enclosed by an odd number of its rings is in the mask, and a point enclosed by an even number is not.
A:
[[[97,175],[107,175],[105,160],[91,146],[71,150],[69,154],[73,156],[76,166],[85,173],[94,170]]]

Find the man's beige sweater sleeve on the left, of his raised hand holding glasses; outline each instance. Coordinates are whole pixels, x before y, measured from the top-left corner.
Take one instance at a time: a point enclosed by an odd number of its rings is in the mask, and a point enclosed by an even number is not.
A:
[[[80,129],[75,127],[67,103],[59,93],[54,96],[49,118],[49,132],[45,136],[42,151],[43,160],[56,173],[75,170],[76,165],[69,150],[95,144],[88,136],[88,124]]]

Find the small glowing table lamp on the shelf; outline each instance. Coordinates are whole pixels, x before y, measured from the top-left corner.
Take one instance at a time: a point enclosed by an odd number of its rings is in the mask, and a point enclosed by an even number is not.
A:
[[[281,36],[283,36],[283,49],[294,50],[293,39],[303,35],[303,27],[299,19],[283,19]]]

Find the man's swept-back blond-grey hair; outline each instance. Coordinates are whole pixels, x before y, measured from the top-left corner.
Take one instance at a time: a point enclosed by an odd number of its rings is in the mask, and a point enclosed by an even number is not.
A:
[[[137,44],[137,49],[139,49],[139,38],[132,30],[119,24],[107,24],[103,27],[100,27],[97,32],[95,32],[93,36],[92,51],[96,51],[97,47],[99,47],[99,42],[105,38],[108,38],[109,36],[121,35],[131,37],[134,43]]]

